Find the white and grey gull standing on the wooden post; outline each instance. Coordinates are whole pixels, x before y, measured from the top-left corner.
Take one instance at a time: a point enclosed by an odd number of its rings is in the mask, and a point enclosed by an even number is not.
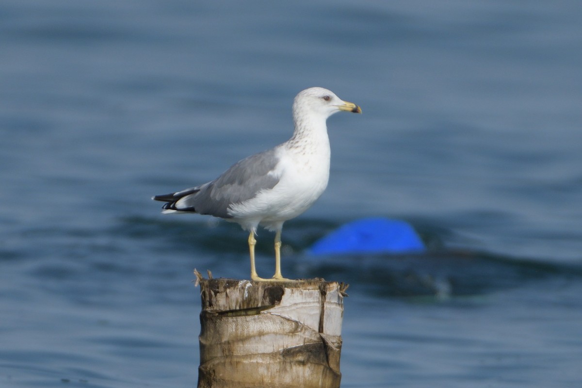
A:
[[[293,136],[275,148],[232,165],[217,179],[176,193],[155,195],[166,202],[162,213],[207,214],[239,223],[249,232],[251,280],[289,282],[281,275],[281,230],[313,205],[328,184],[327,118],[339,111],[361,113],[332,91],[312,87],[293,101]],[[255,269],[257,227],[275,232],[275,275],[264,279]]]

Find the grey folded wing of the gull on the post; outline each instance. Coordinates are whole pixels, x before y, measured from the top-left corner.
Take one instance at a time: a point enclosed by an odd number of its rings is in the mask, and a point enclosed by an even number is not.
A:
[[[250,200],[259,191],[273,188],[279,183],[278,176],[269,174],[278,162],[275,149],[251,155],[235,163],[217,179],[182,197],[176,208],[193,208],[200,214],[232,218],[228,214],[231,204]]]

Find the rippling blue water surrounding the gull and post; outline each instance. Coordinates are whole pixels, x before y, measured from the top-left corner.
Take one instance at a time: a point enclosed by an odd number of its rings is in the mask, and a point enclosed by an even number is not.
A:
[[[330,88],[331,179],[283,273],[350,283],[343,387],[582,385],[578,1],[0,2],[0,387],[193,387],[192,270],[246,233],[151,195],[289,138]],[[345,222],[425,255],[315,258]],[[272,234],[258,235],[260,275]]]

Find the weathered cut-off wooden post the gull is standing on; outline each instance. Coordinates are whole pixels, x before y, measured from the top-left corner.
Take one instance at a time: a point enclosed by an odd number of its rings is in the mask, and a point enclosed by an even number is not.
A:
[[[195,273],[202,298],[198,388],[339,387],[347,286]]]

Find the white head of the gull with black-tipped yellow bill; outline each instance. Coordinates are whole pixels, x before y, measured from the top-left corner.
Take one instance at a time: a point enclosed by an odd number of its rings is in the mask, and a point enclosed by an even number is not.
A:
[[[353,102],[343,101],[331,90],[320,87],[300,91],[293,102],[294,115],[317,115],[327,119],[339,111],[362,112]]]

